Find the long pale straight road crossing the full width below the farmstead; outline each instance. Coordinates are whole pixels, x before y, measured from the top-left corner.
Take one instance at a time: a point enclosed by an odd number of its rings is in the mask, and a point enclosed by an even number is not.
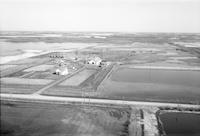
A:
[[[143,102],[143,101],[126,101],[126,100],[111,100],[111,99],[96,99],[96,98],[76,98],[76,97],[58,97],[44,96],[38,93],[31,95],[23,94],[0,94],[1,100],[9,101],[25,101],[25,102],[41,102],[41,103],[86,103],[86,104],[110,104],[110,105],[128,105],[128,106],[153,106],[153,107],[171,107],[171,108],[194,108],[200,109],[200,105],[193,104],[177,104],[177,103],[161,103],[161,102]]]

